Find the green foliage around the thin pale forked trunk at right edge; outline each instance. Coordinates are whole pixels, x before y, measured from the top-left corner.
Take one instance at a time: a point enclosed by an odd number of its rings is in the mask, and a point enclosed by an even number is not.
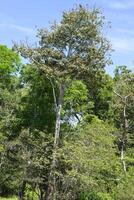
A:
[[[118,137],[121,137],[124,127],[124,103],[123,100],[126,99],[126,119],[127,119],[127,135],[125,144],[125,160],[127,164],[127,169],[134,166],[133,157],[133,139],[134,139],[134,74],[131,70],[128,70],[126,66],[119,66],[115,70],[114,78],[114,90],[119,95],[115,94],[114,102],[114,113],[115,113],[115,124],[119,128]]]

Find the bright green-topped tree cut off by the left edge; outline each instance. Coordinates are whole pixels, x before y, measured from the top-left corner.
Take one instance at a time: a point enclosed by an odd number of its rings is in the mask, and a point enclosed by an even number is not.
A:
[[[0,45],[0,193],[3,195],[14,191],[14,184],[10,178],[15,170],[7,159],[8,145],[6,144],[17,134],[15,133],[17,123],[15,109],[18,102],[16,94],[18,78],[15,73],[20,67],[19,55],[6,46]],[[11,121],[14,124],[13,135],[11,135]]]

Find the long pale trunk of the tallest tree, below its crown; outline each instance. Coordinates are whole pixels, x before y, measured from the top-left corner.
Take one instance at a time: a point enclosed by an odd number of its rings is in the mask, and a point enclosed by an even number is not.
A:
[[[61,83],[59,88],[59,98],[58,103],[56,104],[56,122],[55,122],[55,133],[54,133],[54,147],[53,147],[53,159],[52,159],[52,166],[51,172],[49,177],[49,185],[46,192],[46,200],[56,200],[56,191],[57,191],[57,183],[56,183],[56,169],[58,167],[58,160],[57,160],[57,149],[59,147],[60,142],[60,128],[61,128],[61,110],[63,104],[63,97],[65,91],[65,84]],[[54,99],[55,96],[54,96]]]

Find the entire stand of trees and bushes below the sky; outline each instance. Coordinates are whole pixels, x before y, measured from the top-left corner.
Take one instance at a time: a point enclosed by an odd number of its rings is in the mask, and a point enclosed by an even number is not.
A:
[[[0,199],[134,200],[134,73],[100,9],[0,45]]]

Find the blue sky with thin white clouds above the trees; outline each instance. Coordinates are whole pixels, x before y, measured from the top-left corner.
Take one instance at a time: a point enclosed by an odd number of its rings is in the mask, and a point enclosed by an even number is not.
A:
[[[114,52],[113,64],[106,68],[113,75],[115,66],[134,66],[134,0],[0,0],[0,44],[36,39],[37,28],[60,21],[62,12],[77,4],[102,10],[111,28],[105,31]]]

